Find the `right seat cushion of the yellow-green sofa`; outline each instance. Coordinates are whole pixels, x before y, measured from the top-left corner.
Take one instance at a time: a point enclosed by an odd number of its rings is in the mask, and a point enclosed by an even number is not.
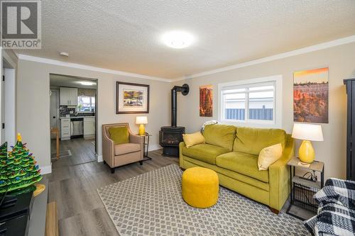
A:
[[[228,152],[216,157],[217,167],[244,174],[268,183],[268,171],[258,170],[258,156],[243,152]]]

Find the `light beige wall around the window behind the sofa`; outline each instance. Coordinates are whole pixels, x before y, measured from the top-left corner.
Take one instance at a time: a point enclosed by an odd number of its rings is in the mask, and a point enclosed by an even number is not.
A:
[[[213,119],[218,116],[217,85],[223,82],[283,75],[283,129],[288,133],[293,128],[293,72],[302,69],[329,67],[329,124],[322,124],[324,142],[313,142],[316,159],[325,162],[325,176],[346,176],[346,91],[343,79],[355,77],[355,43],[330,47],[303,55],[264,62],[217,74],[175,82],[190,85],[190,94],[178,97],[178,123],[185,125],[187,132],[200,129],[206,120],[199,115],[199,87],[214,86]],[[299,145],[299,142],[297,142]],[[297,146],[298,147],[298,146]]]

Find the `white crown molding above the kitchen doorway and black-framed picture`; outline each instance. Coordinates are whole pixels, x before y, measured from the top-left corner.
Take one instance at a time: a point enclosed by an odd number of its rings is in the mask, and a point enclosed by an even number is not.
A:
[[[48,59],[44,57],[33,57],[29,55],[23,55],[23,54],[18,54],[18,59],[19,60],[26,60],[26,61],[31,61],[31,62],[40,62],[44,64],[53,64],[53,65],[58,65],[61,67],[71,67],[71,68],[76,68],[76,69],[86,69],[86,70],[91,70],[93,72],[102,72],[102,73],[107,73],[107,74],[117,74],[117,75],[122,75],[126,77],[134,77],[134,78],[139,78],[139,79],[151,79],[155,81],[160,81],[160,82],[173,82],[172,79],[164,79],[160,77],[152,77],[144,74],[135,74],[135,73],[130,73],[130,72],[122,72],[120,70],[114,70],[114,69],[104,69],[100,67],[92,67],[88,66],[86,64],[77,64],[77,63],[72,63],[72,62],[62,62],[58,60],[53,60],[53,59]]]

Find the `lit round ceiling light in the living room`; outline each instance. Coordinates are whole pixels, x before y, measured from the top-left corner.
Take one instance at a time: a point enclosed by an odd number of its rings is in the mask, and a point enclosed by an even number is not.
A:
[[[185,31],[175,30],[164,33],[162,36],[162,41],[168,47],[184,48],[190,46],[193,43],[194,37]]]

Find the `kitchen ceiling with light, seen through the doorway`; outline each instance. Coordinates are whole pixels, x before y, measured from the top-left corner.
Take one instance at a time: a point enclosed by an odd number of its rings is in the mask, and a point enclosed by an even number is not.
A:
[[[72,87],[81,89],[97,89],[95,79],[87,79],[82,77],[71,77],[62,74],[50,74],[49,75],[50,86],[58,87]],[[82,85],[80,82],[92,82],[92,85]]]

